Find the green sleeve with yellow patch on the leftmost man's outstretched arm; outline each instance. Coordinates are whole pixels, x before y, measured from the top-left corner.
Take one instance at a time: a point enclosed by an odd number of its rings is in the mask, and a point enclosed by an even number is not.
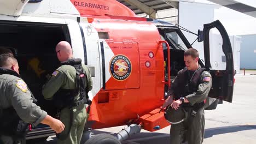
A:
[[[33,103],[31,92],[27,89],[26,83],[22,80],[10,81],[8,91],[12,97],[10,102],[19,117],[34,125],[39,124],[46,117],[47,113]]]

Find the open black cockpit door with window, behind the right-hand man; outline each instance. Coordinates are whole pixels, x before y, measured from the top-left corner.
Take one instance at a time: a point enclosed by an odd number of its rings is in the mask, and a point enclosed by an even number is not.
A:
[[[216,51],[218,47],[210,47],[210,30],[217,29],[222,37],[222,51],[225,56],[222,56],[222,61],[225,65],[222,70],[217,70],[214,66],[214,61],[211,61],[210,52]],[[229,35],[219,20],[203,25],[203,46],[205,51],[205,67],[212,75],[212,89],[208,97],[216,98],[232,102],[234,89],[234,62],[232,47],[229,40]],[[211,48],[211,50],[210,50]],[[221,48],[220,48],[221,49]],[[221,51],[221,50],[220,50]],[[218,55],[221,55],[218,53]]]

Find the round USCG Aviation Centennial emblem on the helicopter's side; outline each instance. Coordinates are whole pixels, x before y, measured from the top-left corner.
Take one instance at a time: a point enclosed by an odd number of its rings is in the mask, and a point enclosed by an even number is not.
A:
[[[109,67],[111,75],[119,81],[123,81],[131,75],[131,61],[124,55],[114,56]]]

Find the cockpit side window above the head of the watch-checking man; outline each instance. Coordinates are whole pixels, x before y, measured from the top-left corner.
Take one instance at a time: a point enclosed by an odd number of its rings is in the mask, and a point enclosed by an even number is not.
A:
[[[166,38],[174,45],[174,49],[187,50],[187,46],[176,31],[166,32]]]

